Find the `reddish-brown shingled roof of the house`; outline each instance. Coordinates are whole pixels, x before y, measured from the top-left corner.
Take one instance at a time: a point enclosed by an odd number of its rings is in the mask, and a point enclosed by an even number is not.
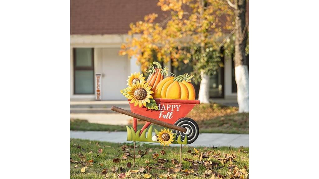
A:
[[[70,0],[71,34],[125,34],[130,23],[157,13],[156,22],[166,18],[158,0]],[[249,16],[249,2],[247,2]],[[249,19],[249,17],[247,17]]]

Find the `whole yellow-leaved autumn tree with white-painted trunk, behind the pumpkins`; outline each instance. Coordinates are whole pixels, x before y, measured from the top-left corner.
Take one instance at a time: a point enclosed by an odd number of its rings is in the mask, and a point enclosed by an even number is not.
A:
[[[119,54],[135,56],[145,72],[154,60],[171,61],[174,67],[191,63],[195,81],[200,81],[198,98],[209,103],[209,76],[222,66],[219,53],[234,29],[234,11],[225,0],[159,0],[169,15],[154,22],[157,14],[130,24],[132,38]]]

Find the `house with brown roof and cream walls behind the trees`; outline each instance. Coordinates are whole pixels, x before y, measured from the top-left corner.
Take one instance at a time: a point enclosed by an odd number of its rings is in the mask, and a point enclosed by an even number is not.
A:
[[[126,100],[119,90],[126,88],[131,73],[141,71],[136,58],[118,54],[121,44],[131,38],[129,24],[150,13],[158,13],[161,21],[165,14],[150,0],[71,0],[70,7],[70,100],[95,100],[97,91],[101,100]],[[233,60],[225,56],[222,61],[224,67],[211,75],[210,96],[236,98]],[[165,65],[176,75],[191,68]],[[96,74],[101,75],[98,87]],[[198,91],[199,84],[194,86]]]

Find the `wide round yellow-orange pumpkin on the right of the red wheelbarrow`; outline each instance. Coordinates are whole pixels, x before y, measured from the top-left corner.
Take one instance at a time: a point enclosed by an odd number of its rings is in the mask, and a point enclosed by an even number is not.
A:
[[[191,82],[193,75],[184,74],[164,78],[156,86],[155,98],[195,99],[195,88]]]

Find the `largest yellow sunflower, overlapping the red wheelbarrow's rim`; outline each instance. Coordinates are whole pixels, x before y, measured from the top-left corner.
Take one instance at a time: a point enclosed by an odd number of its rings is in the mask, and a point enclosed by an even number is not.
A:
[[[137,81],[136,83],[132,84],[130,87],[130,91],[127,92],[127,98],[131,100],[130,103],[134,103],[134,106],[142,107],[142,104],[146,107],[146,103],[150,103],[150,98],[152,97],[152,86],[148,86],[148,83],[145,81]]]

